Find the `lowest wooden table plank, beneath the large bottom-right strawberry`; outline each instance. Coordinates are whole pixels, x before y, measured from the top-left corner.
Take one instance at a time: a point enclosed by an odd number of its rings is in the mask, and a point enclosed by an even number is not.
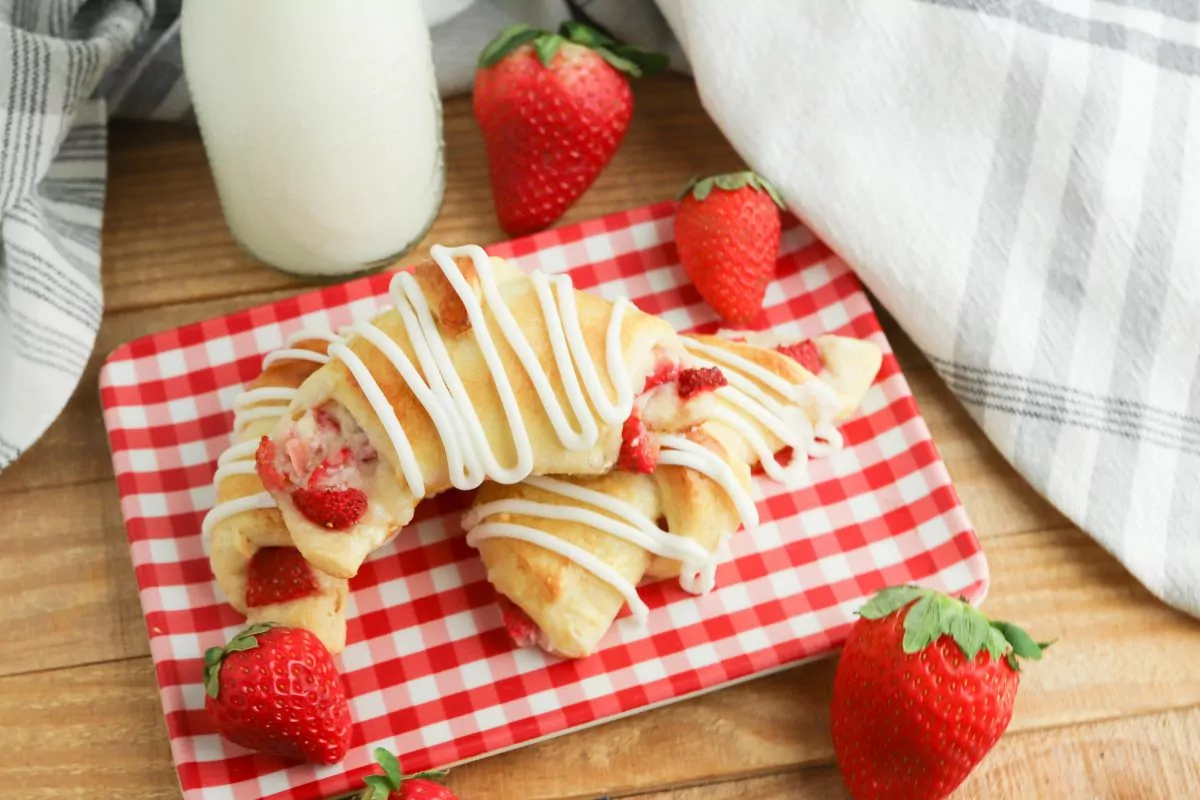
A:
[[[1009,734],[950,800],[1195,795],[1200,709]],[[846,798],[833,765],[629,795],[637,800],[828,800]],[[565,798],[563,800],[566,800]]]

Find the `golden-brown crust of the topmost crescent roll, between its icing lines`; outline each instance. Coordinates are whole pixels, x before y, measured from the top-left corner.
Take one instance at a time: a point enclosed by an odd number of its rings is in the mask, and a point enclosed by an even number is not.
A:
[[[578,422],[571,417],[569,410],[563,379],[533,281],[502,259],[493,258],[492,266],[497,289],[504,297],[505,307],[521,326],[535,359],[541,365],[558,397],[559,404],[564,408],[569,421],[577,428]],[[451,308],[454,303],[449,299],[450,295],[454,295],[449,281],[442,276],[440,270],[437,270],[436,266],[432,270],[437,275],[430,270],[428,265],[420,269],[424,272],[419,282],[424,281],[422,289],[426,291],[431,306],[440,307],[443,313],[448,314],[448,319],[457,319],[456,312]],[[478,276],[474,272],[470,275],[478,282]],[[616,397],[616,389],[610,381],[606,368],[607,330],[613,303],[582,291],[576,291],[574,297],[583,341],[596,363],[600,384],[607,397]],[[455,300],[457,300],[456,296]],[[608,471],[620,451],[622,422],[608,425],[598,419],[600,431],[593,446],[574,451],[564,447],[546,414],[533,380],[505,339],[491,309],[485,307],[484,317],[497,355],[511,381],[516,405],[521,409],[528,431],[533,450],[533,474],[600,475]],[[372,321],[376,327],[396,343],[409,361],[414,365],[419,363],[403,319],[397,311],[384,312]],[[445,331],[442,332],[446,355],[462,379],[484,434],[496,455],[496,461],[505,467],[515,464],[517,451],[514,445],[512,426],[503,408],[499,392],[492,380],[476,337],[474,335],[449,337],[445,336]],[[635,390],[644,383],[659,357],[665,356],[677,361],[685,357],[679,338],[671,325],[662,319],[638,312],[636,308],[626,308],[620,338],[620,361],[628,368]],[[376,378],[384,397],[401,421],[414,457],[421,465],[425,495],[430,497],[449,489],[451,480],[444,445],[425,405],[413,393],[388,357],[372,343],[356,337],[350,341],[348,347]],[[299,419],[307,408],[316,408],[330,401],[346,408],[361,426],[380,456],[380,475],[378,477],[380,488],[378,492],[367,491],[372,499],[370,522],[367,524],[360,523],[349,531],[330,534],[294,513],[286,495],[277,495],[276,499],[283,509],[284,519],[293,533],[296,546],[300,547],[306,558],[331,575],[350,577],[355,575],[362,559],[371,551],[408,524],[419,498],[408,487],[400,457],[383,422],[376,415],[349,368],[340,359],[322,367],[305,381],[296,401],[292,404],[290,417]],[[592,411],[594,414],[594,409]],[[284,435],[286,428],[287,423],[276,428],[276,440]]]

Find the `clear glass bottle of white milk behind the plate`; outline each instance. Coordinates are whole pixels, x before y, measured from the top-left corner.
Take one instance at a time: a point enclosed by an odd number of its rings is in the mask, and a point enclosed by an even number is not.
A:
[[[234,237],[298,275],[414,246],[445,187],[420,0],[185,0],[184,66]]]

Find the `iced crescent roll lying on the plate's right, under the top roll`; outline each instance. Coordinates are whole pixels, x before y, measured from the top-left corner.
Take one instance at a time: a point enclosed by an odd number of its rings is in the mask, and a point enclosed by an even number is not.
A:
[[[638,583],[678,576],[684,589],[709,591],[721,543],[739,524],[757,524],[751,468],[803,480],[808,456],[840,447],[835,422],[858,407],[882,360],[874,344],[836,336],[770,348],[714,336],[684,344],[728,383],[714,392],[709,420],[660,437],[653,474],[530,477],[476,494],[467,541],[518,645],[586,656],[623,606],[644,618]]]

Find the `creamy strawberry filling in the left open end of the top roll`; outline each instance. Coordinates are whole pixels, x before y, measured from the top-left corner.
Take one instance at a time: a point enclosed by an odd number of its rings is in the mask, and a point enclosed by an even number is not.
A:
[[[378,459],[366,433],[334,403],[305,413],[282,445],[264,437],[256,453],[263,486],[289,492],[301,516],[330,530],[346,530],[366,513],[364,471]]]

